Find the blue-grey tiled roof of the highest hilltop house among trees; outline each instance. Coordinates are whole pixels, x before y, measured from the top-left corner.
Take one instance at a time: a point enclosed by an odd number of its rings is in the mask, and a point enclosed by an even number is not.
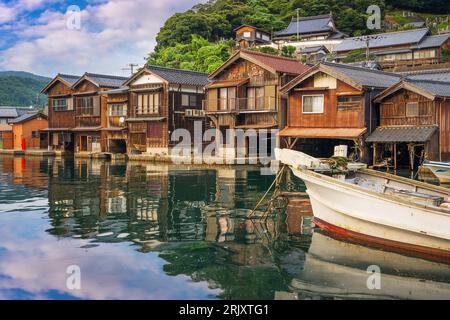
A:
[[[320,16],[303,17],[298,21],[297,19],[292,19],[291,23],[285,30],[275,32],[275,37],[296,35],[297,30],[299,31],[300,35],[334,31],[333,17],[329,14],[326,14]]]

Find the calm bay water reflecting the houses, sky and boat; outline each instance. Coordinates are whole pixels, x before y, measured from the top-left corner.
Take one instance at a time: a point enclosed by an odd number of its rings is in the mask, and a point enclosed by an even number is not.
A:
[[[0,299],[450,299],[449,265],[333,239],[307,206],[249,219],[272,181],[0,156]],[[372,265],[380,290],[367,288]],[[81,290],[68,289],[69,266]]]

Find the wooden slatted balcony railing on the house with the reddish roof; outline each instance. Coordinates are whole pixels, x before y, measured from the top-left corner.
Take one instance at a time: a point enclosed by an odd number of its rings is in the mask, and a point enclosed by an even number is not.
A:
[[[203,110],[209,113],[276,112],[278,101],[276,97],[203,100]]]

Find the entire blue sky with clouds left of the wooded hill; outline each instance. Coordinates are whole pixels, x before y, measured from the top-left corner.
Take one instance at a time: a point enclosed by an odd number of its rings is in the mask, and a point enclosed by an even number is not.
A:
[[[128,75],[164,21],[201,1],[0,0],[0,70]]]

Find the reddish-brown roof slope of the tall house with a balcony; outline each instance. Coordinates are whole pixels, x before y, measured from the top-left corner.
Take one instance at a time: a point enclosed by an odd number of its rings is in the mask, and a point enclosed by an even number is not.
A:
[[[309,69],[307,65],[295,59],[250,50],[242,50],[242,52],[259,61],[261,64],[274,69],[276,72],[302,74]]]

